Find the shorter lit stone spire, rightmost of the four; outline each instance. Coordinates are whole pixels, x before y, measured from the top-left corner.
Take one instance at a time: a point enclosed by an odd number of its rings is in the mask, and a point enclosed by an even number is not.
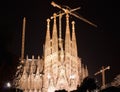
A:
[[[75,36],[75,22],[72,21],[72,55],[77,57],[77,44]]]

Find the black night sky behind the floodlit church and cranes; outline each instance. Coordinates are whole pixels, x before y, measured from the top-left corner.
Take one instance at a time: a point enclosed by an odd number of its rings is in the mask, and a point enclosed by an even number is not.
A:
[[[22,19],[27,18],[25,55],[42,56],[45,41],[46,19],[60,10],[51,6],[52,0],[5,1],[0,18],[0,81],[13,78],[20,57]],[[110,82],[120,70],[120,33],[117,24],[117,7],[112,0],[53,0],[71,8],[81,7],[76,12],[97,24],[89,24],[71,16],[76,22],[78,55],[87,64],[93,76],[101,66],[111,66],[106,71]],[[96,76],[99,82],[101,75]]]

